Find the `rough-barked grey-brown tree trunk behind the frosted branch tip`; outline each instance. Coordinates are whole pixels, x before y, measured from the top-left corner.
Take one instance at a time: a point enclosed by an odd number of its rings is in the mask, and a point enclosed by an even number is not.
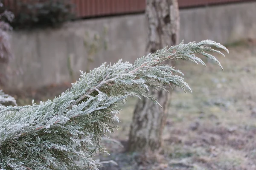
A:
[[[177,0],[146,0],[145,13],[148,19],[146,53],[154,53],[165,46],[176,45],[180,19]],[[150,91],[150,93],[157,98],[162,108],[145,98],[137,102],[127,151],[157,152],[161,147],[170,93],[165,91]]]

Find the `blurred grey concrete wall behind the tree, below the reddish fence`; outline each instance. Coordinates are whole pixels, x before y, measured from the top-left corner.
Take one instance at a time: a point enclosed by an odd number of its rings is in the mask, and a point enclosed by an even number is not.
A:
[[[17,31],[12,33],[15,59],[9,70],[18,74],[12,74],[8,88],[70,82],[70,55],[77,79],[79,70],[85,71],[87,65],[85,32],[101,34],[104,26],[108,28],[108,50],[94,56],[90,69],[120,58],[133,62],[144,54],[147,27],[143,14],[76,21],[55,30]],[[225,44],[248,37],[256,38],[256,2],[180,11],[180,40],[185,42],[211,39]]]

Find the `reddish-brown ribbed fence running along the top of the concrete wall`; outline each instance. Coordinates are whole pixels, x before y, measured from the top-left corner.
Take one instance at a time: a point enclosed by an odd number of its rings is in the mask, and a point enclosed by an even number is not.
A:
[[[2,0],[6,6],[17,11],[17,2],[21,0]],[[27,0],[23,0],[27,1]],[[132,14],[145,11],[145,0],[71,0],[75,5],[78,18],[106,15]],[[180,8],[242,3],[252,0],[178,0]]]

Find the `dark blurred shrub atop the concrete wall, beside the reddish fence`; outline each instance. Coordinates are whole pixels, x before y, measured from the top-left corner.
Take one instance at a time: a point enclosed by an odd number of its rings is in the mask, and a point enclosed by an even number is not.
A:
[[[15,12],[15,29],[59,27],[74,19],[71,0],[18,0],[9,6]]]

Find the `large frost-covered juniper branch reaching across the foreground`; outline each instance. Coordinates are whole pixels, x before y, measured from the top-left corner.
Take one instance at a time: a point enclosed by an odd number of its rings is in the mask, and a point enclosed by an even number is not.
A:
[[[184,59],[205,65],[195,56],[203,54],[218,62],[207,53],[222,54],[212,45],[228,52],[211,40],[182,42],[143,56],[134,64],[119,60],[81,73],[70,90],[39,105],[32,102],[31,106],[0,106],[0,168],[96,170],[93,154],[105,152],[101,139],[108,137],[107,133],[115,128],[113,122],[119,121],[117,104],[124,103],[129,96],[145,96],[157,102],[147,93],[149,87],[166,90],[174,84],[191,91],[183,74],[164,61]],[[82,166],[76,164],[78,161]]]

